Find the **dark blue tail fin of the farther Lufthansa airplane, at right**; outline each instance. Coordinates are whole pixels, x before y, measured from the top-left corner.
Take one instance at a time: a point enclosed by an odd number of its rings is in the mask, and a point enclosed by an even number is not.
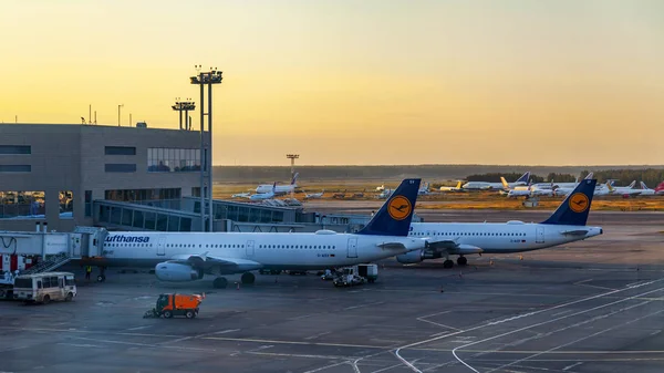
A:
[[[542,224],[584,226],[588,221],[588,213],[590,213],[596,183],[596,179],[581,180],[574,190],[558,206],[556,213]]]

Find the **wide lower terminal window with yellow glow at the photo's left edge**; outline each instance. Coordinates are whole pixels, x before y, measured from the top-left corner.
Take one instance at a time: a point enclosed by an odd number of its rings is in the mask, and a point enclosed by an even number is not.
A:
[[[43,219],[43,191],[0,191],[0,219]]]

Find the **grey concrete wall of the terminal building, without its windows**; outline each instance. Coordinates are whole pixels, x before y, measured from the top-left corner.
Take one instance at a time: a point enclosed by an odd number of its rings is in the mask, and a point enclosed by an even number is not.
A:
[[[200,134],[178,129],[102,125],[0,124],[0,145],[30,145],[30,155],[0,155],[0,165],[31,165],[30,173],[0,173],[0,190],[45,191],[49,229],[92,225],[84,190],[103,199],[106,189],[181,188],[189,196],[199,173],[148,173],[149,147],[199,148]],[[105,155],[105,146],[135,146],[135,156]],[[135,173],[106,173],[106,163],[135,163]],[[74,194],[74,218],[59,217],[59,193]],[[0,230],[33,230],[34,219],[0,219]]]

